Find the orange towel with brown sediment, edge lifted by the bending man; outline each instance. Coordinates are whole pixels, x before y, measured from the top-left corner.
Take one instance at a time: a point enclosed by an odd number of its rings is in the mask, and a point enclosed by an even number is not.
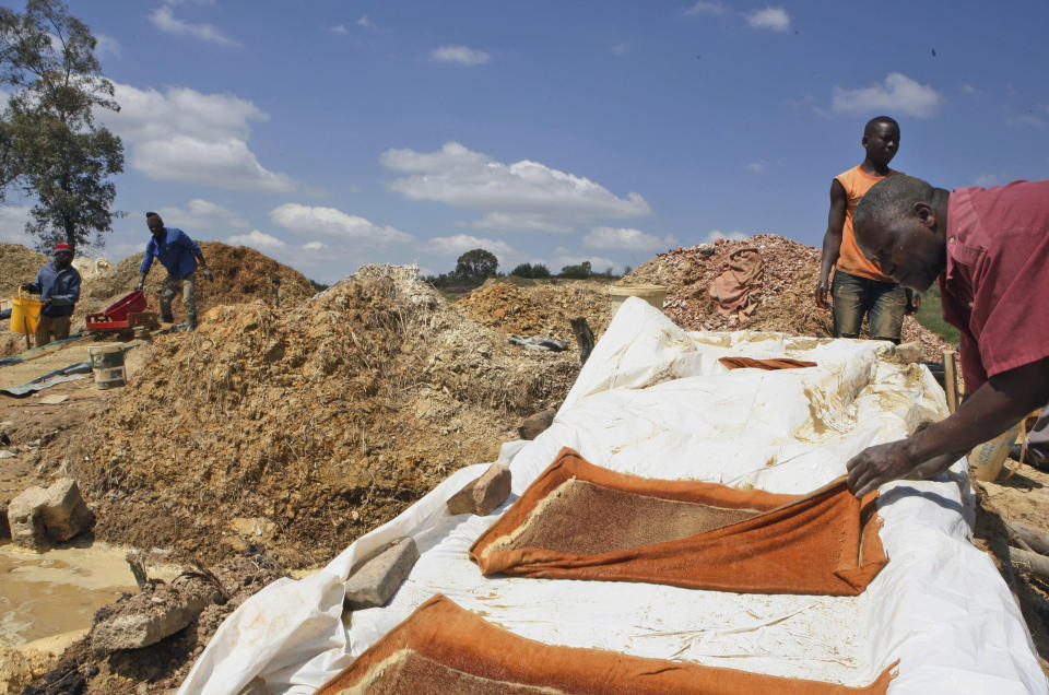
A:
[[[871,493],[808,495],[648,480],[564,448],[470,547],[485,575],[857,596],[888,562]]]

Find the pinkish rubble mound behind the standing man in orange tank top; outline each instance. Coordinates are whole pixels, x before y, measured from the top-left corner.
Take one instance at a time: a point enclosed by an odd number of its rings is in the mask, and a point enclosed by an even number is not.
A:
[[[757,310],[750,319],[721,316],[707,291],[740,249],[762,255],[762,284],[756,290]],[[669,288],[663,313],[685,330],[781,331],[793,335],[829,337],[830,311],[816,307],[813,288],[820,278],[820,249],[776,234],[756,234],[740,242],[720,240],[679,247],[646,261],[621,281],[623,284],[659,284]],[[864,321],[863,335],[868,335]],[[922,358],[939,361],[947,344],[914,317],[904,319],[903,342],[919,342]]]

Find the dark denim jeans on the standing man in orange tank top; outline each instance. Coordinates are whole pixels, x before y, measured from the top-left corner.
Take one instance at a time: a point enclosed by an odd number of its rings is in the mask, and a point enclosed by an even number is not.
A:
[[[871,323],[872,340],[899,343],[907,310],[907,291],[900,285],[836,270],[830,296],[834,297],[835,338],[859,338],[865,315]]]

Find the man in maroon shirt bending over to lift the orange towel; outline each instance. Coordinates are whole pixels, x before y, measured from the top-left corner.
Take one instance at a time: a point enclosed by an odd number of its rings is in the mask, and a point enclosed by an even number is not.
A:
[[[967,392],[946,420],[853,457],[849,488],[862,496],[941,473],[1049,401],[1049,181],[946,191],[893,176],[854,224],[860,249],[899,284],[923,292],[939,279]]]

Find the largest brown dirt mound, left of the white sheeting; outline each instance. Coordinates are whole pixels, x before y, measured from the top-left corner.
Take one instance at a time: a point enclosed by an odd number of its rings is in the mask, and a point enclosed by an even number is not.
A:
[[[557,404],[575,353],[526,353],[413,268],[366,267],[299,309],[217,306],[156,339],[70,457],[96,533],[215,558],[326,562]],[[248,528],[248,531],[244,531]]]

